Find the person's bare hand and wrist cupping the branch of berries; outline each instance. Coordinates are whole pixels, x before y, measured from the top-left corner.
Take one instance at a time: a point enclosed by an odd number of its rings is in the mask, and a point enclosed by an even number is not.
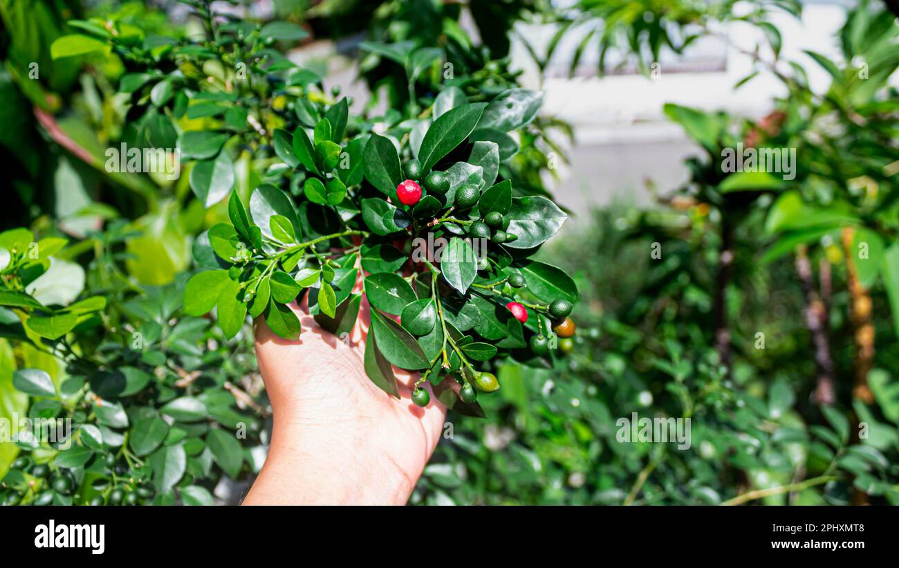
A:
[[[399,400],[371,383],[365,297],[343,341],[309,315],[307,299],[291,309],[303,326],[297,341],[275,335],[262,318],[254,322],[274,424],[244,503],[405,504],[440,439],[446,407],[433,394],[423,408],[412,402],[417,373],[394,368]]]

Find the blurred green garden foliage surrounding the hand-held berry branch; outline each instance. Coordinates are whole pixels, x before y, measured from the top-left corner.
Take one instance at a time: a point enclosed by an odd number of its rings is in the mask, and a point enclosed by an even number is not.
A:
[[[543,258],[574,274],[581,290],[574,346],[559,351],[552,368],[495,369],[502,388],[484,401],[487,418],[449,416],[451,437],[411,502],[899,504],[899,99],[890,84],[899,26],[891,3],[848,10],[833,39],[841,60],[809,53],[830,75],[823,92],[810,88],[802,65],[780,57],[780,32],[767,18],[772,11],[799,17],[802,5],[794,1],[581,0],[562,9],[541,0],[276,0],[263,16],[254,3],[218,4],[236,16],[301,29],[268,45],[267,65],[280,65],[278,49],[348,43],[373,93],[366,110],[374,114],[379,106],[388,122],[410,107],[426,108],[448,80],[470,101],[517,84],[509,58],[515,34],[541,70],[566,33],[588,29],[573,71],[580,53],[592,50],[601,54],[600,75],[611,53],[648,75],[661,51],[680,53],[718,22],[761,28],[766,43],[745,81],[774,75],[787,95],[770,101],[770,114],[758,121],[665,108],[701,148],[689,160],[690,182],[650,207],[578,211],[579,222],[547,244]],[[23,242],[68,239],[52,260],[67,278],[46,292],[58,303],[106,298],[71,343],[51,349],[0,308],[0,416],[69,415],[67,406],[14,387],[14,371],[22,368],[43,369],[72,396],[87,395],[102,369],[133,369],[126,378],[139,385],[135,399],[111,395],[129,409],[132,430],[173,401],[201,401],[201,411],[166,411],[177,418],[159,444],[205,443],[191,445],[176,484],[155,487],[139,502],[236,502],[262,464],[271,424],[249,326],[227,342],[209,320],[181,313],[191,244],[227,216],[224,204],[206,211],[188,175],[170,182],[107,172],[107,147],[153,131],[135,120],[122,93],[129,58],[107,49],[54,59],[50,46],[79,31],[67,22],[81,20],[133,35],[152,53],[169,44],[164,38],[202,33],[202,18],[190,14],[203,6],[0,0],[0,152],[9,196],[0,228],[28,226],[33,235]],[[556,37],[540,50],[516,22],[553,22]],[[422,49],[439,49],[453,63],[452,78],[439,64],[403,63],[410,59],[402,54]],[[214,67],[202,66],[191,80],[227,80]],[[303,96],[330,100],[319,79]],[[277,88],[257,94],[272,105],[260,110],[264,129],[296,120],[280,107],[293,95]],[[208,119],[180,120],[183,128]],[[522,193],[545,192],[556,174],[550,156],[564,155],[571,135],[570,125],[539,117],[503,162],[503,175]],[[738,143],[796,148],[796,178],[724,173],[722,151]],[[265,158],[271,146],[249,131],[235,150],[235,186],[246,198],[272,174]],[[22,238],[7,232],[0,244]],[[137,349],[135,332],[143,341]],[[690,418],[690,448],[619,442],[617,421],[631,413]],[[236,447],[210,434],[240,422],[249,433]],[[102,440],[114,459],[96,467],[63,467],[73,464],[60,462],[54,448],[3,444],[4,502],[13,494],[22,503],[40,495],[57,503],[97,495],[111,502],[120,486],[138,495],[145,465],[125,451],[133,445],[114,430],[103,430]],[[165,460],[149,462],[147,468],[165,470]],[[34,466],[44,464],[69,471],[78,489],[23,489],[37,478]],[[136,474],[138,482],[129,482]]]

